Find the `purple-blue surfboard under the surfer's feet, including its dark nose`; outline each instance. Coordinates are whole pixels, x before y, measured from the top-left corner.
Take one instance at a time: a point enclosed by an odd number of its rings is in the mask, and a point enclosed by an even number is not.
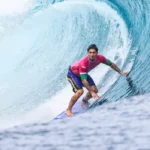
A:
[[[76,115],[82,114],[82,113],[86,112],[87,110],[92,109],[92,108],[94,108],[98,105],[102,105],[104,102],[107,102],[107,99],[102,99],[102,100],[99,100],[99,101],[97,100],[93,104],[91,104],[89,106],[86,106],[86,105],[82,104],[81,100],[79,100],[73,106],[72,112],[76,116]],[[67,116],[65,114],[65,111],[63,111],[58,116],[56,116],[53,120],[59,120],[59,119],[64,119],[64,118],[71,118],[71,117]]]

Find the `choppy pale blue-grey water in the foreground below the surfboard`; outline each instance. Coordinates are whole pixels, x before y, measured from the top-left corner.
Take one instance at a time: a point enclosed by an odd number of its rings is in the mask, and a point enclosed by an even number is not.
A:
[[[149,150],[150,102],[145,96],[103,104],[61,121],[0,132],[1,149]]]

